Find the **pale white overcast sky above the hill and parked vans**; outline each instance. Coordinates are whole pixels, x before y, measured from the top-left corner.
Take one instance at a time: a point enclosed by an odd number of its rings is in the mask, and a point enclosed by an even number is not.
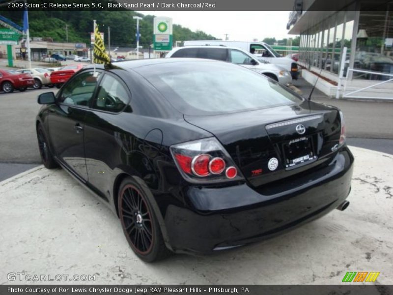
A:
[[[294,37],[288,35],[286,24],[289,11],[138,11],[144,15],[166,16],[173,24],[193,31],[202,30],[219,39],[225,34],[231,41],[263,40],[266,37]]]

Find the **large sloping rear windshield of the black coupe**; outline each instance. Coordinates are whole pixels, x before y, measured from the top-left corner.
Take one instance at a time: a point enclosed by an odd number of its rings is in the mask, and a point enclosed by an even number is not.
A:
[[[204,116],[292,105],[301,98],[239,65],[183,61],[136,69],[181,113]]]

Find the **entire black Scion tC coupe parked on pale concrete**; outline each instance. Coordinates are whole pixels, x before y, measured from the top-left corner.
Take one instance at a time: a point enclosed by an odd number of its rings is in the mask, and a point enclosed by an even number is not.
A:
[[[342,113],[238,65],[86,67],[38,103],[45,167],[111,207],[144,261],[244,245],[349,204]]]

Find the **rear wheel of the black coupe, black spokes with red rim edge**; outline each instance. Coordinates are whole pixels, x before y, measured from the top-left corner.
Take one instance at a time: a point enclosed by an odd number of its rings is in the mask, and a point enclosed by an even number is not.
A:
[[[121,227],[134,253],[145,262],[168,257],[157,217],[144,189],[133,178],[125,178],[118,190]]]

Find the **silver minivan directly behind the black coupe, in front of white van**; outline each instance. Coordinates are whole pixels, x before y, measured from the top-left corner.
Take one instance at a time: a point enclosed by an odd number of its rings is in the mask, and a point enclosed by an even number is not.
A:
[[[282,85],[292,83],[291,73],[282,67],[257,59],[252,54],[236,47],[223,46],[185,46],[176,47],[168,52],[166,58],[199,58],[229,61],[264,74]]]

